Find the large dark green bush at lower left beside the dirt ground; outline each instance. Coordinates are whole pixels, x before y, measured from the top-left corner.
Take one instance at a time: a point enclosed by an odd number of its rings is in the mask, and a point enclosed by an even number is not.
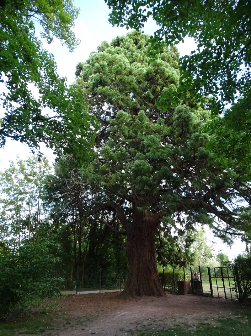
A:
[[[0,253],[0,320],[7,320],[14,308],[21,308],[34,297],[59,294],[63,279],[51,279],[52,264],[59,261],[47,248],[22,246],[16,251]]]

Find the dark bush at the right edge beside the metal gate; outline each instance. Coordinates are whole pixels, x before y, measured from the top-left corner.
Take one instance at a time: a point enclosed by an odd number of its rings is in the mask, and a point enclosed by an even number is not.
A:
[[[243,300],[251,296],[251,252],[239,254],[234,261],[238,270]]]

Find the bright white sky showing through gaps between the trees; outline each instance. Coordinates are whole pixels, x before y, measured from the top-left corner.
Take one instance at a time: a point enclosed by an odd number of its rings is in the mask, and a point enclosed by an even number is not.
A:
[[[67,77],[68,84],[75,80],[76,65],[79,61],[86,61],[92,51],[96,51],[97,46],[102,41],[111,42],[117,35],[127,34],[127,30],[121,27],[112,27],[108,23],[108,14],[110,12],[104,0],[77,0],[74,5],[80,8],[80,14],[75,22],[74,32],[77,38],[80,38],[80,45],[71,53],[67,47],[62,46],[61,42],[55,40],[50,45],[44,44],[45,48],[54,54],[58,65],[58,74],[61,77]],[[153,35],[157,26],[153,20],[149,20],[144,28],[144,33]],[[192,38],[186,38],[183,44],[178,45],[180,55],[189,54],[196,48],[195,42]],[[41,143],[40,150],[50,160],[51,164],[54,162],[55,156],[53,151],[46,148],[44,143]],[[4,148],[0,149],[0,170],[6,169],[9,166],[9,160],[15,160],[18,155],[21,159],[25,159],[31,154],[27,145],[20,142],[7,139]],[[209,229],[206,229],[208,241],[214,239]],[[222,250],[230,259],[234,258],[239,253],[245,250],[245,244],[236,240],[232,249],[226,244],[223,244],[219,239],[214,239],[215,244],[213,248],[216,253]]]

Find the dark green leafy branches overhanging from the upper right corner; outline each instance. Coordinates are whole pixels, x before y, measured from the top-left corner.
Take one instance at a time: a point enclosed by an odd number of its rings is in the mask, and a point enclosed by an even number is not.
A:
[[[216,146],[223,162],[238,158],[251,171],[251,3],[250,1],[105,1],[112,8],[109,22],[140,30],[149,17],[158,25],[151,37],[149,55],[156,57],[165,45],[193,37],[197,50],[180,58],[180,85],[169,88],[158,98],[167,109],[179,104],[189,92],[214,95],[206,103],[214,112],[223,112],[226,102],[233,106],[224,111],[224,119],[211,122]],[[241,98],[240,98],[241,97]],[[236,98],[239,101],[236,101]],[[216,101],[218,102],[216,103]],[[205,103],[205,101],[204,101]]]

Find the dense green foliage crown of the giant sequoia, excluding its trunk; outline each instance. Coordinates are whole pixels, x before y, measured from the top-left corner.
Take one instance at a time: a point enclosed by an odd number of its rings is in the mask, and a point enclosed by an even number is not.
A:
[[[105,201],[142,199],[150,211],[167,217],[185,211],[187,222],[206,222],[214,214],[235,231],[241,227],[238,217],[246,213],[245,207],[231,206],[244,196],[245,187],[237,182],[242,173],[233,161],[224,169],[207,149],[214,137],[206,133],[206,106],[189,95],[175,109],[156,106],[164,90],[179,85],[178,55],[175,48],[165,48],[151,62],[147,41],[137,32],[117,37],[77,66],[77,82],[101,122],[99,159],[92,173],[90,168],[83,173],[89,182],[100,183]]]

